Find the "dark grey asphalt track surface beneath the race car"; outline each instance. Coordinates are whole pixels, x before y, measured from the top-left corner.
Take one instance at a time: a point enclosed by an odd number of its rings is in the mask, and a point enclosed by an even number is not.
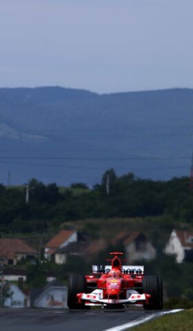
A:
[[[0,309],[1,331],[103,331],[154,312],[125,310]]]

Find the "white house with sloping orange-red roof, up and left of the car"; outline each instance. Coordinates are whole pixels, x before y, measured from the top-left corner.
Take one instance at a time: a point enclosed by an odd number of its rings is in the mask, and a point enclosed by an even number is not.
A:
[[[45,244],[45,258],[53,258],[57,264],[64,263],[61,261],[61,256],[56,255],[56,252],[68,246],[72,242],[77,242],[78,235],[76,230],[61,230],[55,235],[50,242]]]

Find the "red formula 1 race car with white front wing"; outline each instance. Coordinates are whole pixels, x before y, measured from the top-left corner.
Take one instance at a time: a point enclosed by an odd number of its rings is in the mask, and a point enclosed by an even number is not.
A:
[[[120,255],[110,253],[111,265],[92,266],[92,275],[72,275],[68,283],[68,308],[89,306],[121,308],[141,304],[145,310],[163,308],[163,284],[157,276],[143,276],[143,266],[122,266]]]

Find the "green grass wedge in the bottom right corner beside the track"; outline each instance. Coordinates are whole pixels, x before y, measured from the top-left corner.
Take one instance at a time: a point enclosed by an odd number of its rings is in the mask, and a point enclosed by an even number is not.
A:
[[[153,321],[141,324],[132,331],[192,331],[193,330],[193,309],[166,314]]]

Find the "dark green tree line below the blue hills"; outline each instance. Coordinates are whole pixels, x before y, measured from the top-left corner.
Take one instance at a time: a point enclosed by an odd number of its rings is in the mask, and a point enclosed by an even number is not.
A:
[[[92,189],[83,183],[61,190],[57,184],[28,182],[29,201],[21,187],[0,184],[0,232],[45,233],[68,221],[105,217],[167,215],[175,222],[192,223],[193,192],[187,177],[167,181],[117,176],[105,171]],[[81,193],[76,193],[81,189]]]

